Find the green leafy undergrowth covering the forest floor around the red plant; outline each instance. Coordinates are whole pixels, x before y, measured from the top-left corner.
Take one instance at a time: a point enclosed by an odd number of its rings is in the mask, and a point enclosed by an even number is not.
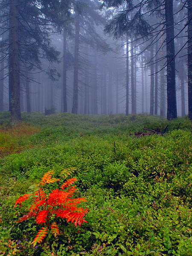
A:
[[[192,132],[185,118],[0,113],[0,255],[192,256]],[[178,124],[180,128],[177,130]],[[162,135],[135,137],[143,128]],[[73,168],[76,195],[90,211],[81,227],[32,241],[35,218],[16,223],[15,200],[44,173]],[[25,206],[29,206],[26,201]]]

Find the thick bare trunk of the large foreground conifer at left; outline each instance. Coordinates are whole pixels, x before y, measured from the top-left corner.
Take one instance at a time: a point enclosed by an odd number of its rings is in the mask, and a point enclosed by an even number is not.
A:
[[[10,4],[9,29],[9,89],[12,125],[21,121],[20,115],[20,69],[19,69],[19,1]]]

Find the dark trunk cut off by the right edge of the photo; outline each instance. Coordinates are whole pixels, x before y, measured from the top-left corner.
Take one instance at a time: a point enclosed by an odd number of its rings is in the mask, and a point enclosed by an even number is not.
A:
[[[192,120],[192,0],[188,0],[188,110]]]

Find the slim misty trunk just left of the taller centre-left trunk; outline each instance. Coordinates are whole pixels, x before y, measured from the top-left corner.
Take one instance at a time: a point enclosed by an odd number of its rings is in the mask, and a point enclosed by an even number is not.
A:
[[[63,33],[63,112],[67,112],[67,32]]]

